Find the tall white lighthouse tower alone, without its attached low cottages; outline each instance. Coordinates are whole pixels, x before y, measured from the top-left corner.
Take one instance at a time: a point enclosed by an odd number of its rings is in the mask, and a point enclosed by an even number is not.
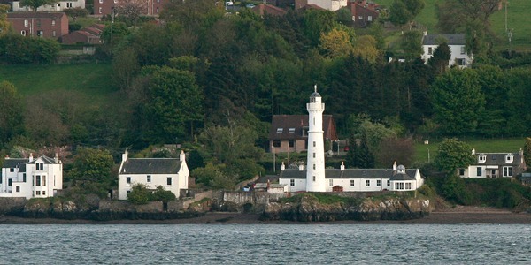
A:
[[[325,143],[323,140],[323,111],[325,104],[315,91],[310,95],[310,102],[306,104],[308,110],[308,163],[306,163],[306,191],[326,192],[325,180]]]

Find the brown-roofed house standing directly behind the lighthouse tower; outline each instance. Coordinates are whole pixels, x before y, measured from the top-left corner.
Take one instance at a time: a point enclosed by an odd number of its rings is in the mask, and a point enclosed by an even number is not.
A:
[[[308,128],[308,115],[273,115],[269,147],[275,153],[305,151],[308,149]],[[323,131],[324,140],[338,140],[332,115],[323,115]]]

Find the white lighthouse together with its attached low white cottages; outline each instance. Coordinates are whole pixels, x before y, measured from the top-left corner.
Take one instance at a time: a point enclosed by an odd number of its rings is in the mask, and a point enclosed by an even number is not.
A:
[[[279,184],[291,193],[296,192],[377,192],[413,191],[424,184],[419,169],[406,170],[403,165],[392,169],[325,169],[323,111],[325,104],[315,92],[306,104],[308,110],[308,155],[307,167],[299,164],[296,169],[281,166]]]

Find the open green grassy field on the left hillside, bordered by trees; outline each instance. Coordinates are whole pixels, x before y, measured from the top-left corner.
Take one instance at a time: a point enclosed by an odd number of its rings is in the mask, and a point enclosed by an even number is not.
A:
[[[69,90],[100,101],[116,90],[110,85],[111,73],[111,64],[2,65],[0,80],[11,82],[23,96]]]

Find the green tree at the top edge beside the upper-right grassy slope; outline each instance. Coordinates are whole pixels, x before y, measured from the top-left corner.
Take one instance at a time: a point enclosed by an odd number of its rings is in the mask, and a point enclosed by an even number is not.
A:
[[[424,8],[424,0],[395,0],[390,7],[389,21],[398,26],[410,24]]]

